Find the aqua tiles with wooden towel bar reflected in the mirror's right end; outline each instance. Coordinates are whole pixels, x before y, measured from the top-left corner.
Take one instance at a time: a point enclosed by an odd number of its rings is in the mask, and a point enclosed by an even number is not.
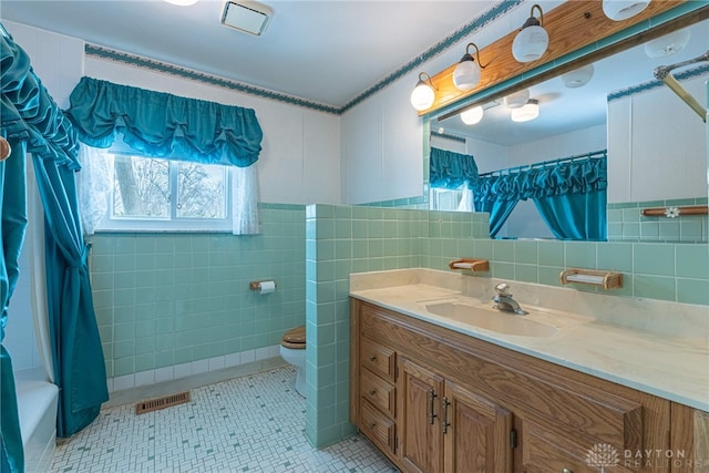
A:
[[[707,215],[646,217],[643,208],[707,205],[707,197],[608,204],[608,239],[631,241],[707,243]]]

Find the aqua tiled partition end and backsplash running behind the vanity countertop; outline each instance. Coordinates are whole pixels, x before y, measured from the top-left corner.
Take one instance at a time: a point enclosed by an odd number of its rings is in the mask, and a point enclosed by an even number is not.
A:
[[[371,206],[309,206],[306,228],[306,434],[316,446],[353,431],[348,421],[350,273],[448,270],[451,259],[467,256],[491,261],[487,274],[474,277],[561,286],[559,273],[578,266],[621,271],[624,288],[604,292],[609,297],[709,306],[706,244],[492,240],[486,214]]]

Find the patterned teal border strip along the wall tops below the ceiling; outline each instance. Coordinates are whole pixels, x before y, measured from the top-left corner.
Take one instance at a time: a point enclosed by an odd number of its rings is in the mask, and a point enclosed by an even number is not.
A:
[[[448,50],[449,48],[451,48],[452,45],[461,41],[463,38],[474,33],[481,28],[484,28],[492,21],[496,20],[497,18],[505,14],[506,12],[508,12],[510,10],[514,9],[515,7],[517,7],[523,2],[524,0],[504,0],[499,2],[497,4],[493,6],[490,10],[482,13],[480,17],[475,18],[470,23],[463,25],[462,28],[453,32],[451,35],[443,39],[438,44],[433,45],[431,49],[429,49],[424,53],[409,61],[407,64],[402,65],[397,71],[394,71],[392,74],[384,78],[380,82],[376,83],[371,88],[367,89],[364,92],[362,92],[361,94],[356,96],[352,101],[350,101],[349,103],[345,104],[341,107],[326,105],[322,103],[300,99],[294,95],[274,92],[267,89],[257,88],[255,85],[245,84],[243,82],[233,81],[229,79],[223,79],[216,75],[197,72],[191,69],[181,68],[177,65],[140,56],[136,54],[115,51],[115,50],[100,47],[96,44],[86,43],[86,45],[84,47],[84,52],[88,56],[92,56],[92,58],[103,59],[103,60],[113,61],[113,62],[120,62],[120,63],[129,64],[135,68],[147,69],[151,71],[160,72],[163,74],[175,75],[182,79],[202,82],[208,85],[218,86],[223,89],[229,89],[229,90],[245,93],[248,95],[256,95],[264,99],[284,102],[289,105],[302,106],[305,109],[311,109],[318,112],[341,115],[342,113],[352,109],[357,104],[374,95],[377,92],[391,85],[393,82],[398,81],[403,75],[408,74],[409,72],[420,66],[424,62],[441,54],[443,51]]]

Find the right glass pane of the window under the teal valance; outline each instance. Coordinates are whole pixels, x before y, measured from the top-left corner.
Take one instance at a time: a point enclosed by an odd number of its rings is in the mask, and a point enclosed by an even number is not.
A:
[[[226,167],[177,163],[177,217],[225,218]]]

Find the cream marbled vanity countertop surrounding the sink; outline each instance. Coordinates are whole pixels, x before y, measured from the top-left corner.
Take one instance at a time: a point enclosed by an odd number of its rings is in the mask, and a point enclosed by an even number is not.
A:
[[[420,268],[377,271],[351,275],[350,295],[709,412],[709,308],[510,281],[512,294],[520,292],[515,300],[530,315],[501,315],[490,309],[491,316],[524,317],[556,328],[544,337],[485,330],[427,309],[436,301],[491,308],[490,295],[494,295],[496,282],[500,280]],[[531,297],[533,294],[538,297]],[[525,304],[525,296],[530,304]]]

